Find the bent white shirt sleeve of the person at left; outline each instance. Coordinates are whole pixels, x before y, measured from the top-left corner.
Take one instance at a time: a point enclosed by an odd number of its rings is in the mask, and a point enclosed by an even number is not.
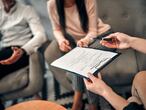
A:
[[[23,45],[22,48],[28,54],[32,54],[47,40],[47,38],[40,19],[34,9],[31,6],[27,6],[25,12],[25,19],[28,22],[33,38]]]

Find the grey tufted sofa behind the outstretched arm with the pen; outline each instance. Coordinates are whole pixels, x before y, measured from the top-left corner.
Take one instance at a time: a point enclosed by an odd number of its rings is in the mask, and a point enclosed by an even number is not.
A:
[[[98,0],[100,18],[115,32],[146,38],[145,0]],[[133,77],[146,69],[146,55],[133,49],[118,50],[122,55],[103,69],[103,79],[120,94],[130,92]]]

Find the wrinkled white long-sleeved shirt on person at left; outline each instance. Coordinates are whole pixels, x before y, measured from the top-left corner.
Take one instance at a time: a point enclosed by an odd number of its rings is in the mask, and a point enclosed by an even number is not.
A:
[[[28,54],[35,52],[47,40],[34,9],[18,2],[6,13],[0,0],[0,31],[2,47],[21,46]]]

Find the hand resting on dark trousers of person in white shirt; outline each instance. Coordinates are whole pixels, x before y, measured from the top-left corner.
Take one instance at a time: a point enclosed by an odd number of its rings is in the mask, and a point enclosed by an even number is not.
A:
[[[2,64],[2,65],[13,64],[13,63],[17,62],[24,53],[24,50],[22,50],[21,48],[18,48],[18,47],[12,47],[12,50],[13,50],[12,56],[8,59],[1,60],[0,64]]]

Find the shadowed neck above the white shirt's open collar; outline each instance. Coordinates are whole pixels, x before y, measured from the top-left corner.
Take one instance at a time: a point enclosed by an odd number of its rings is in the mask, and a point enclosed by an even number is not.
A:
[[[2,0],[4,9],[8,13],[10,9],[16,4],[15,0]]]

